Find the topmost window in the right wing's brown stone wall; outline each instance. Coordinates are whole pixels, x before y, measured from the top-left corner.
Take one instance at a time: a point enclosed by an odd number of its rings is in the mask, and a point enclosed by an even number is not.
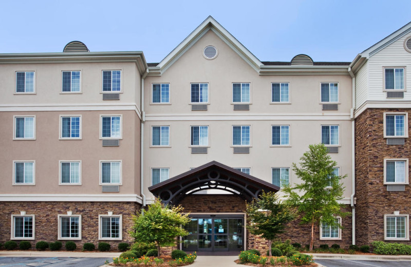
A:
[[[384,138],[408,138],[408,113],[384,112]]]

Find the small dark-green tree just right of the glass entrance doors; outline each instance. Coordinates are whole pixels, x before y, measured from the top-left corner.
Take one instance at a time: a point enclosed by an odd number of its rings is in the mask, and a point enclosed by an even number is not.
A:
[[[258,199],[247,203],[246,212],[250,221],[247,228],[251,234],[267,239],[269,256],[272,256],[272,241],[278,234],[284,233],[285,224],[294,218],[294,214],[289,206],[278,200],[274,192],[264,191]]]

